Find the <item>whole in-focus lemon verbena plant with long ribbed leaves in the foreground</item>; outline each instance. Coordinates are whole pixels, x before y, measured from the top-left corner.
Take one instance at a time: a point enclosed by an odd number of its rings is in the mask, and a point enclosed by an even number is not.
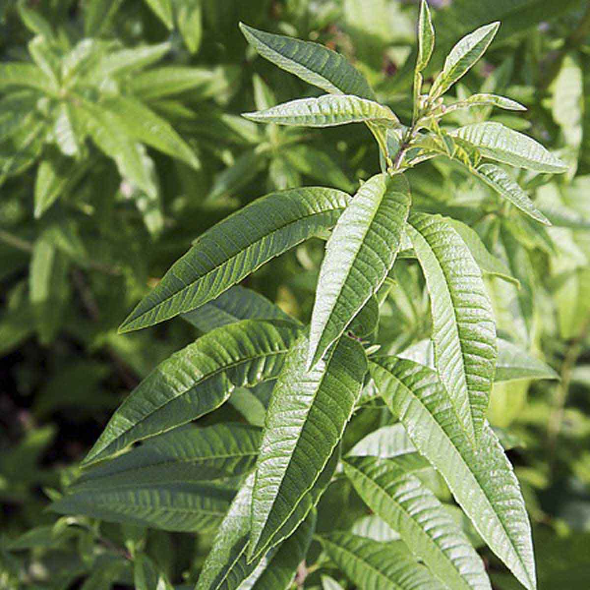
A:
[[[325,93],[244,116],[271,126],[363,123],[378,143],[376,173],[353,195],[324,186],[273,192],[195,240],[120,332],[182,316],[204,335],[129,395],[54,510],[216,530],[198,590],[301,588],[317,570],[326,574],[324,589],[340,588],[333,578],[363,589],[491,589],[479,538],[520,584],[536,588],[525,502],[486,414],[494,382],[552,371],[497,335],[484,278],[517,289],[512,269],[468,225],[412,204],[408,181],[420,163],[444,158],[493,189],[499,211],[549,225],[512,168],[553,174],[566,166],[497,120],[457,126],[448,117],[524,110],[495,94],[445,96],[499,27],[458,41],[425,81],[435,33],[422,0],[413,114],[402,121],[342,55],[241,25],[258,54]],[[304,325],[239,283],[312,238],[326,245]],[[389,355],[376,333],[402,260],[424,277],[430,338]],[[262,408],[254,424],[188,424],[238,391],[247,412]],[[343,454],[355,412],[383,406],[388,422]],[[365,526],[381,526],[381,536],[326,522],[322,504],[316,508],[335,481],[352,484],[372,513]],[[457,506],[441,499],[441,486]]]

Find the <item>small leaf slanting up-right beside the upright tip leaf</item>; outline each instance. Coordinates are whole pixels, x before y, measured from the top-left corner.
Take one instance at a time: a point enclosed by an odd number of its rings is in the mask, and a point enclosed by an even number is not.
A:
[[[432,83],[430,96],[433,99],[437,99],[441,94],[444,94],[457,80],[460,80],[471,70],[486,52],[494,37],[496,37],[499,27],[499,22],[492,22],[489,25],[480,27],[463,37],[453,47],[445,60],[441,73]]]

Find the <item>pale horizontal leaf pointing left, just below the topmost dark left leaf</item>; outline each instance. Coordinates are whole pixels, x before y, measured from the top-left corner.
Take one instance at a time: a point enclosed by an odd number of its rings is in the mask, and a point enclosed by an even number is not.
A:
[[[398,127],[398,117],[389,107],[351,94],[324,94],[317,98],[291,100],[276,107],[244,113],[258,123],[279,123],[301,127],[333,127],[347,123],[372,122]]]

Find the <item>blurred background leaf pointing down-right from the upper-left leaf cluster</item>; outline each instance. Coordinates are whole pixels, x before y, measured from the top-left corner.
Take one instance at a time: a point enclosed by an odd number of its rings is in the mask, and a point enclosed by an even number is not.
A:
[[[166,120],[138,100],[113,96],[101,103],[101,107],[113,113],[120,128],[130,137],[199,168],[198,158],[182,137]]]

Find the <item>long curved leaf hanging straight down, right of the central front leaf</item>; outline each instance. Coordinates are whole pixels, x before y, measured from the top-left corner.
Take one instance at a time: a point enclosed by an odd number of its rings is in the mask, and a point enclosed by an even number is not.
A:
[[[496,369],[496,324],[480,268],[444,219],[414,214],[408,234],[424,271],[434,360],[456,420],[471,442],[483,428]]]

